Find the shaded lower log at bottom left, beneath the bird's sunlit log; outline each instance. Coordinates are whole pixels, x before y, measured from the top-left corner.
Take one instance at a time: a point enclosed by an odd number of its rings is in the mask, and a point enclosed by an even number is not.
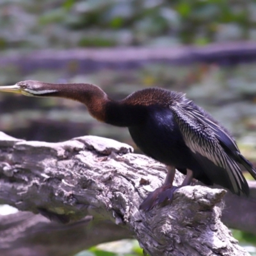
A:
[[[95,244],[124,238],[132,238],[127,228],[111,221],[95,221],[92,216],[66,225],[32,212],[0,216],[3,256],[70,256]]]

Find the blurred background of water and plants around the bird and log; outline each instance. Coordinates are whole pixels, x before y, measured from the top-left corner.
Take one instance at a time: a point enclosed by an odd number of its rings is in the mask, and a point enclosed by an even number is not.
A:
[[[227,127],[256,164],[255,1],[1,0],[0,24],[1,85],[93,83],[113,99],[152,86],[184,92]],[[157,58],[159,49],[164,58]],[[0,109],[0,131],[17,138],[91,134],[136,149],[127,129],[93,120],[78,102],[1,93]],[[256,255],[255,236],[233,234]],[[79,256],[141,253],[127,240]]]

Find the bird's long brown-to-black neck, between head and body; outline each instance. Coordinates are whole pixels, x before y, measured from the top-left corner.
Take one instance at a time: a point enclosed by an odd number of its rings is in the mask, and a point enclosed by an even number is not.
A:
[[[86,105],[90,115],[101,122],[129,127],[140,120],[139,109],[122,101],[109,99],[108,95],[93,84],[48,84],[42,83],[46,92],[42,96],[63,97]],[[54,91],[54,92],[53,92]]]

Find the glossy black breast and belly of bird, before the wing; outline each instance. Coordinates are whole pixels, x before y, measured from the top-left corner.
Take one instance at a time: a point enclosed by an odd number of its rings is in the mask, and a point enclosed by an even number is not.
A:
[[[145,122],[129,127],[132,140],[146,155],[180,168],[189,168],[191,152],[170,109],[150,111]]]

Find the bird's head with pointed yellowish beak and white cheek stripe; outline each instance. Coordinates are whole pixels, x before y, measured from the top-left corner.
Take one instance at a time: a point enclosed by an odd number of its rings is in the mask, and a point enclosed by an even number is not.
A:
[[[46,96],[58,90],[51,88],[50,84],[40,81],[27,80],[14,85],[0,86],[0,92],[20,93],[26,96]]]

